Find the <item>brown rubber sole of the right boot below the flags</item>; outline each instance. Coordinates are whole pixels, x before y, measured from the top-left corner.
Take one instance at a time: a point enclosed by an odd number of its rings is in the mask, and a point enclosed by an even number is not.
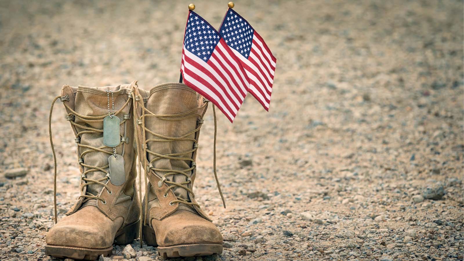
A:
[[[147,226],[143,226],[143,238],[148,245],[157,247],[158,256],[161,258],[222,254],[222,244],[188,244],[160,247],[156,243],[155,231]]]

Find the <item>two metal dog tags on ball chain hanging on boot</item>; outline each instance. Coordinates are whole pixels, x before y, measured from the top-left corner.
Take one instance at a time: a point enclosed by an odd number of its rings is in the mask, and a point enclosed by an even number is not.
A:
[[[110,92],[112,101],[112,111],[110,111]],[[116,146],[121,142],[119,135],[119,117],[115,113],[115,100],[113,91],[106,90],[108,96],[108,116],[103,119],[103,144],[113,147],[113,155],[108,157],[110,165],[110,182],[115,186],[121,186],[125,181],[124,158],[117,154]]]

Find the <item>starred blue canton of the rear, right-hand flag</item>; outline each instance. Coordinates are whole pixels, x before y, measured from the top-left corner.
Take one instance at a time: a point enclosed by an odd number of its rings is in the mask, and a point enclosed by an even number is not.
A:
[[[229,9],[219,28],[219,34],[228,46],[248,58],[251,52],[251,42],[253,41],[253,27],[238,13]]]

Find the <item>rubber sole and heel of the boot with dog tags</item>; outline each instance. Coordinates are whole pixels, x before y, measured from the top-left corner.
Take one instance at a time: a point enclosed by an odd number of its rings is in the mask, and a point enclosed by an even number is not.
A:
[[[118,245],[132,243],[139,235],[139,221],[129,224],[116,233],[115,241]],[[100,255],[110,256],[113,246],[109,248],[80,248],[45,244],[45,254],[59,258],[97,260]]]

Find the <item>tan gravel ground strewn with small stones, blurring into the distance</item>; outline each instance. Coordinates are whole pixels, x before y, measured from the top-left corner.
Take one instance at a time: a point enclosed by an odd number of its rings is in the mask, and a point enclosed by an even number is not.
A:
[[[195,1],[219,26],[226,2]],[[51,260],[47,117],[64,84],[176,81],[188,2],[0,0],[0,259]],[[195,194],[222,255],[185,260],[463,260],[463,2],[236,2],[277,57],[271,110],[206,114]],[[60,216],[77,200],[57,104]],[[16,176],[11,178],[11,176]],[[138,242],[115,260],[157,259]],[[136,255],[136,256],[135,256]],[[180,259],[174,259],[180,260]]]

